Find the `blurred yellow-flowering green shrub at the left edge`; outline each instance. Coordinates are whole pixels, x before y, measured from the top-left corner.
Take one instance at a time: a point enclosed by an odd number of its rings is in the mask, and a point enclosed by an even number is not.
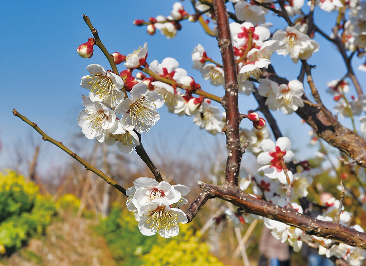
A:
[[[0,173],[0,210],[7,214],[0,220],[0,254],[11,254],[30,237],[44,233],[56,214],[54,203],[14,171]]]

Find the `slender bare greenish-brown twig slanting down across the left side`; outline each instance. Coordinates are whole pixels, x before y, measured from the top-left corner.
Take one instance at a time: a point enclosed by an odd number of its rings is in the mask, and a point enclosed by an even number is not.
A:
[[[98,170],[97,168],[95,168],[94,166],[90,165],[88,162],[86,162],[85,160],[83,160],[81,157],[79,157],[78,155],[76,155],[76,153],[74,153],[73,151],[69,150],[65,145],[62,144],[62,142],[59,141],[55,141],[55,139],[51,138],[50,136],[48,136],[47,134],[45,134],[45,132],[43,132],[36,123],[31,122],[29,119],[27,119],[27,117],[20,115],[20,113],[18,113],[15,109],[13,109],[13,114],[15,116],[18,116],[20,119],[22,119],[25,123],[29,124],[31,127],[34,128],[34,130],[36,130],[41,136],[42,139],[44,141],[49,141],[51,142],[53,145],[56,145],[57,147],[59,147],[61,150],[63,150],[64,152],[66,152],[67,154],[69,154],[72,158],[74,158],[76,161],[80,162],[82,165],[85,166],[85,168],[93,173],[95,173],[96,175],[100,176],[102,179],[104,179],[108,184],[110,184],[111,186],[115,187],[117,190],[119,190],[120,192],[122,192],[124,195],[126,195],[126,190],[121,187],[119,184],[116,183],[116,181],[114,181],[113,179],[111,179],[110,177],[108,177],[107,175],[105,175],[102,171]]]

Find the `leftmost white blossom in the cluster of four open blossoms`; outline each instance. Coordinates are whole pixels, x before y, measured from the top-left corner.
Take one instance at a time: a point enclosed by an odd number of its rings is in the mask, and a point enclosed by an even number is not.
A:
[[[121,127],[115,126],[116,114],[103,102],[93,102],[89,96],[83,99],[85,110],[81,110],[78,116],[78,125],[82,128],[83,134],[88,139],[96,138],[103,142],[106,137],[106,130],[111,132],[122,132]]]

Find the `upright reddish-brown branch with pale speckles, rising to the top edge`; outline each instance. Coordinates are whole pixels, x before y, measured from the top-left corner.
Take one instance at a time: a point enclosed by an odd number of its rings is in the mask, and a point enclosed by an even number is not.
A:
[[[226,146],[228,151],[225,181],[230,185],[238,186],[242,151],[240,149],[239,138],[240,114],[238,109],[236,64],[231,44],[229,20],[225,1],[213,0],[212,4],[217,19],[218,46],[220,48],[224,65],[225,77],[225,95],[221,101],[221,105],[224,107],[226,113],[226,125],[223,131],[226,135]]]

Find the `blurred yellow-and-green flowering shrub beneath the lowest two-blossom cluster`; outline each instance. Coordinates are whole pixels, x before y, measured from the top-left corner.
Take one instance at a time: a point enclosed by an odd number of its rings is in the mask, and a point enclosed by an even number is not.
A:
[[[223,266],[210,254],[209,246],[193,233],[190,224],[180,224],[179,235],[170,239],[143,236],[137,225],[133,213],[115,205],[107,219],[96,227],[120,265]]]

